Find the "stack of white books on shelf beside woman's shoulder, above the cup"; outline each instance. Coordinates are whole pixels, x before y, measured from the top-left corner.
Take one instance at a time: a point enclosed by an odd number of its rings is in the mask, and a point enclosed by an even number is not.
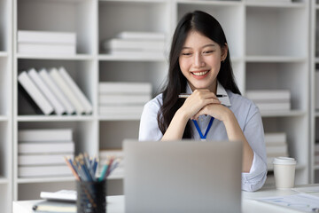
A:
[[[291,92],[288,90],[251,90],[246,97],[253,100],[261,112],[291,110]]]

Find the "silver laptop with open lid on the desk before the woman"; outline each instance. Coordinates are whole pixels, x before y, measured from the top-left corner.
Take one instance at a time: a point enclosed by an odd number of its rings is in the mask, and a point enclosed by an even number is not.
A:
[[[124,140],[126,213],[241,212],[242,143]]]

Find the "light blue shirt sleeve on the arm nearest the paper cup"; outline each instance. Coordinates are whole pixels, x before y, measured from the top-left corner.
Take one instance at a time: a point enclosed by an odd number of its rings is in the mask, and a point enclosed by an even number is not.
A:
[[[252,104],[247,116],[244,134],[253,149],[253,164],[249,173],[242,173],[242,189],[253,192],[262,187],[267,177],[267,154],[261,113]]]

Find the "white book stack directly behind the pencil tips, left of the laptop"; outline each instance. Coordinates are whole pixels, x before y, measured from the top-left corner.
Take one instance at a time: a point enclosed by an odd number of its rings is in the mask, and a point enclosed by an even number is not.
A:
[[[104,149],[99,151],[99,159],[98,159],[98,168],[97,168],[97,176],[102,173],[103,166],[107,160],[114,157],[115,159],[120,159],[118,167],[113,170],[110,177],[124,177],[124,153],[121,149]]]

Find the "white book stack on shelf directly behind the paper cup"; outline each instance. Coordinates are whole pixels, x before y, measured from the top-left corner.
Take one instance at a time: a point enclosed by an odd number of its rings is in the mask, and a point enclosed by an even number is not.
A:
[[[288,157],[287,136],[284,132],[265,133],[268,169],[273,169],[273,161],[276,157]]]

